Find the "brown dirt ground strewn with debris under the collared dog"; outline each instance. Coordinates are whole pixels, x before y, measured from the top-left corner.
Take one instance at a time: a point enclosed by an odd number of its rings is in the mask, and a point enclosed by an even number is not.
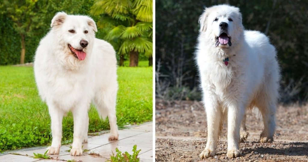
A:
[[[227,159],[224,126],[216,156],[201,160],[205,148],[206,114],[201,102],[156,99],[156,161],[308,161],[308,106],[278,106],[273,143],[258,143],[261,117],[247,112],[250,136],[240,144],[241,157]]]

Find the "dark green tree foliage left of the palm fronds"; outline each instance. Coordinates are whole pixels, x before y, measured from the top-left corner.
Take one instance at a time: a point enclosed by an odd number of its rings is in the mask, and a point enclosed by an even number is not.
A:
[[[55,13],[65,11],[68,14],[89,15],[90,7],[93,5],[93,0],[3,0],[2,2],[0,3],[1,65],[19,63],[22,48],[20,33],[25,35],[25,62],[32,62],[39,41],[48,32]],[[21,26],[18,26],[18,22]]]

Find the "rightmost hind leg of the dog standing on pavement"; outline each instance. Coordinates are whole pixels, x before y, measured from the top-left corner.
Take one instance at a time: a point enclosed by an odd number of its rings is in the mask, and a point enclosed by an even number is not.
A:
[[[106,116],[108,116],[110,124],[109,140],[117,140],[119,136],[115,114],[116,93],[117,85],[110,86],[106,89],[98,91],[94,99],[94,103],[96,105],[97,111],[99,112],[99,115],[102,118],[106,118]]]

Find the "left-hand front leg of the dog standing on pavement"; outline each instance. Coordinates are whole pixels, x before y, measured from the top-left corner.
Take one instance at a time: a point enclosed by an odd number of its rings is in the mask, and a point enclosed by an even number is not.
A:
[[[60,152],[62,139],[62,119],[64,112],[53,104],[48,104],[48,110],[51,118],[51,146],[47,148],[48,155],[57,155]]]

